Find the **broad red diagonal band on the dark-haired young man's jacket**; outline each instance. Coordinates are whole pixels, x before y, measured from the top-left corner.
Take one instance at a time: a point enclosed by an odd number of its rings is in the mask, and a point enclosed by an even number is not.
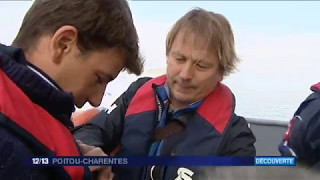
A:
[[[0,112],[57,156],[79,156],[71,132],[47,111],[34,104],[0,69]],[[84,167],[64,166],[73,180],[83,179]]]

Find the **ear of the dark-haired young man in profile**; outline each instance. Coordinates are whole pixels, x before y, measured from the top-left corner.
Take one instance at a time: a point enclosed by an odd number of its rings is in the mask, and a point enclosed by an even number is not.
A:
[[[60,27],[52,36],[50,42],[51,57],[55,64],[60,64],[62,57],[77,47],[78,30],[74,26]]]

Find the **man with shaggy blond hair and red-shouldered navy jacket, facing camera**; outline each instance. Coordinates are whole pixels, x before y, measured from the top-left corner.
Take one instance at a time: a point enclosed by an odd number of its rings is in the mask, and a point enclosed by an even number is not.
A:
[[[119,156],[255,156],[255,137],[234,113],[235,97],[221,83],[238,62],[228,20],[191,10],[169,32],[166,56],[165,75],[131,84],[113,109],[76,129],[76,139]],[[201,177],[197,167],[113,167],[113,172],[117,180]]]

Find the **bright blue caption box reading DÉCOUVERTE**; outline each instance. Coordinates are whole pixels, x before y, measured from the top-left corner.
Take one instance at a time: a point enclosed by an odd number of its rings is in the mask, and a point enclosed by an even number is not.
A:
[[[256,166],[295,166],[295,157],[256,157]]]

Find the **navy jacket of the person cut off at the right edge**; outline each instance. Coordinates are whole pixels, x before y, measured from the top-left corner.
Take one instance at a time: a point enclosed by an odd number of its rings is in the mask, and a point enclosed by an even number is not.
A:
[[[294,113],[279,151],[283,156],[296,156],[297,161],[308,167],[318,163],[320,170],[320,83]],[[316,167],[316,166],[315,166]]]

